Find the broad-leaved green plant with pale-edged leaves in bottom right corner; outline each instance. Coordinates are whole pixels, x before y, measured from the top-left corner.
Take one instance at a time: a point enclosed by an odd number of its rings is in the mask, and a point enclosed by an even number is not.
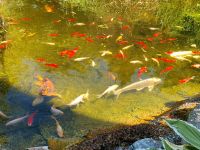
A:
[[[195,150],[200,149],[200,130],[182,120],[166,120],[170,128],[178,134],[188,144],[175,145],[167,140],[162,139],[163,146],[166,150]]]

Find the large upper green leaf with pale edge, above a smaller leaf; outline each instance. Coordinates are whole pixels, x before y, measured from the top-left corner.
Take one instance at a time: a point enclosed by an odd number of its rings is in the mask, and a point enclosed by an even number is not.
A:
[[[200,130],[182,120],[168,119],[166,122],[183,140],[200,149]]]

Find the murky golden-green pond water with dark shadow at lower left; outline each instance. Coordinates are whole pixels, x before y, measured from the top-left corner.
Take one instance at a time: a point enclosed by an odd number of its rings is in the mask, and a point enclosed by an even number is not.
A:
[[[4,113],[12,120],[36,112],[31,126],[27,119],[12,126],[5,126],[9,120],[1,122],[1,134],[10,149],[46,145],[49,139],[76,141],[91,130],[138,124],[166,111],[167,103],[199,92],[199,69],[192,67],[200,63],[199,51],[184,37],[169,36],[159,27],[150,30],[152,26],[147,24],[133,25],[120,15],[99,17],[78,6],[61,8],[53,2],[12,0],[2,7],[8,25],[6,38],[11,40],[2,60],[9,84]],[[102,51],[107,54],[102,56]],[[169,51],[196,53],[180,60],[166,53]],[[74,61],[80,57],[89,58]],[[130,63],[134,60],[137,62]],[[143,72],[141,77],[139,72]],[[44,96],[43,103],[32,106],[39,94],[36,75],[51,80],[61,98]],[[153,77],[162,83],[152,91],[144,88],[118,98],[112,93],[97,98],[108,86],[122,88]],[[67,107],[86,91],[88,100]],[[64,138],[56,134],[52,105],[64,112],[57,117]]]

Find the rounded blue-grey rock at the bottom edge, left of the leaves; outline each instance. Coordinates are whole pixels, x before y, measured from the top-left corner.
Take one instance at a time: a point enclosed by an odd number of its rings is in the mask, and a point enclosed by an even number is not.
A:
[[[145,138],[134,142],[128,148],[128,150],[146,150],[146,149],[162,150],[162,143],[152,138]]]

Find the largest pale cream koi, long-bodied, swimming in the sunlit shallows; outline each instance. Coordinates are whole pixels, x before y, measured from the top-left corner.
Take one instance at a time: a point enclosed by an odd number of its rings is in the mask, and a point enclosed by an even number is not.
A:
[[[119,95],[123,92],[134,90],[134,89],[137,90],[137,91],[140,91],[140,90],[142,90],[146,87],[149,88],[149,91],[152,91],[154,86],[161,83],[161,81],[162,80],[160,78],[153,77],[153,78],[148,78],[148,79],[141,80],[141,81],[138,81],[138,82],[134,82],[130,85],[127,85],[127,86],[125,86],[121,89],[114,91],[114,95],[116,95],[117,98],[118,98]]]

